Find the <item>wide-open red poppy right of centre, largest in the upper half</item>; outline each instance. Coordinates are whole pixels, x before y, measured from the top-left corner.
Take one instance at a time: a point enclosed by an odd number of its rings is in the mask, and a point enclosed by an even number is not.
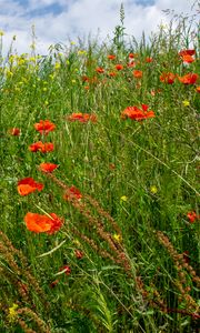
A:
[[[127,109],[124,109],[121,113],[121,118],[126,119],[126,118],[130,118],[132,120],[143,120],[147,118],[154,118],[154,112],[152,110],[149,110],[149,107],[147,104],[142,104],[142,108],[139,109],[138,107],[128,107]]]

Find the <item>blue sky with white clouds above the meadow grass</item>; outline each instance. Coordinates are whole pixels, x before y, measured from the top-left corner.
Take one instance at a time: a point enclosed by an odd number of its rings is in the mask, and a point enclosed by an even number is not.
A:
[[[113,37],[120,23],[119,10],[123,2],[124,27],[130,36],[148,36],[169,19],[162,10],[191,13],[194,0],[0,0],[0,31],[3,36],[3,53],[13,36],[13,49],[18,53],[30,52],[31,27],[37,36],[37,53],[47,54],[50,44],[77,41],[92,32],[106,39]],[[198,2],[198,0],[196,1]],[[197,12],[197,4],[196,10]]]

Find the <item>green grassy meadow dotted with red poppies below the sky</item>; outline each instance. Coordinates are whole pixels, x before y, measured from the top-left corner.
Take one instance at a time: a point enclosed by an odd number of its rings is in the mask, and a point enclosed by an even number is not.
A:
[[[2,333],[198,332],[199,28],[120,14],[0,58]]]

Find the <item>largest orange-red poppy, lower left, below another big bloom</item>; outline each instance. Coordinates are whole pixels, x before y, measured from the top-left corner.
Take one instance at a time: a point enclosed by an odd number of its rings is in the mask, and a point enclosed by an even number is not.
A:
[[[58,218],[54,213],[49,215],[41,215],[37,213],[28,212],[24,216],[24,222],[29,231],[40,233],[47,232],[48,234],[53,234],[60,230],[63,221]]]

